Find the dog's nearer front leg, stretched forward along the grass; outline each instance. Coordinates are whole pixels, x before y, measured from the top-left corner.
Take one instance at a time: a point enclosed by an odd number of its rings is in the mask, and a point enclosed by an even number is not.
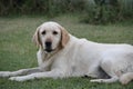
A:
[[[58,78],[58,77],[63,77],[62,71],[51,70],[51,71],[45,71],[45,72],[31,73],[31,75],[28,75],[28,76],[11,77],[9,79],[10,80],[16,80],[16,81],[27,81],[27,80],[32,80],[32,79]]]

